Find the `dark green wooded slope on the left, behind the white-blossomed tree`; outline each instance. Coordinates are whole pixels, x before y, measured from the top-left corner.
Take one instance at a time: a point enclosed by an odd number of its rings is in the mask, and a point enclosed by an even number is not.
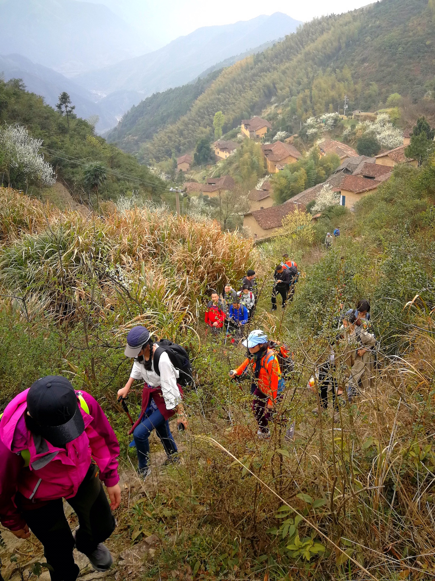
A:
[[[88,121],[76,119],[74,113],[67,119],[45,105],[41,97],[27,92],[18,80],[7,83],[0,80],[0,177],[3,176],[0,184],[8,185],[8,168],[15,164],[8,146],[2,141],[2,130],[6,125],[15,124],[26,127],[31,137],[42,139],[41,153],[45,161],[52,164],[57,181],[78,200],[95,199],[96,189],[102,200],[116,200],[133,189],[160,200],[159,192],[166,189],[148,167],[141,166],[133,156],[115,145],[107,144],[105,139],[96,137],[94,126]],[[102,172],[97,188],[86,180],[92,164]],[[29,184],[21,174],[12,185],[25,188]],[[32,191],[37,192],[38,184],[31,185]]]

